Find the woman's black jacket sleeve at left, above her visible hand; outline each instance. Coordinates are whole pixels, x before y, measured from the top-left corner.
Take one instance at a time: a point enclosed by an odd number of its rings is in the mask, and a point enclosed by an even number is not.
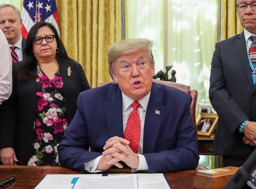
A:
[[[14,147],[16,132],[16,82],[13,66],[12,94],[0,106],[0,149]]]

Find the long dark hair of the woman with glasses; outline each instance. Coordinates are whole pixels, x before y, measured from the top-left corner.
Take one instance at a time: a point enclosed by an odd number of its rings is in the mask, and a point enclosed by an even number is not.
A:
[[[26,40],[26,45],[24,48],[26,59],[23,60],[18,70],[18,79],[22,81],[28,81],[30,79],[37,77],[37,60],[33,53],[33,43],[34,43],[33,40],[35,38],[35,34],[37,33],[38,29],[43,26],[49,27],[51,31],[54,32],[57,48],[59,48],[59,53],[56,53],[55,57],[59,65],[61,66],[62,61],[73,62],[73,60],[68,57],[66,49],[62,41],[60,40],[60,37],[56,28],[51,23],[47,23],[44,21],[38,22],[34,26],[32,26],[32,28],[29,30],[28,38]]]

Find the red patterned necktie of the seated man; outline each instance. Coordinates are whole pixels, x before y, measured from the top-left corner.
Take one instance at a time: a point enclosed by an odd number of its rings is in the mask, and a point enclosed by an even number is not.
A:
[[[137,154],[140,141],[140,118],[137,109],[140,104],[134,101],[131,105],[133,106],[133,111],[131,111],[127,120],[124,137],[126,140],[130,141],[130,148]]]

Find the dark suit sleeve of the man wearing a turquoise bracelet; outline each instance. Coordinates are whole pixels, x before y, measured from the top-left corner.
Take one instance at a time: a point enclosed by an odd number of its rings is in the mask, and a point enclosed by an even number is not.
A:
[[[224,73],[220,49],[220,44],[216,43],[211,62],[209,98],[220,117],[232,118],[222,119],[222,121],[226,127],[229,127],[231,132],[235,132],[239,124],[247,120],[248,117],[227,91],[225,74],[228,73]],[[231,55],[226,54],[226,56]]]

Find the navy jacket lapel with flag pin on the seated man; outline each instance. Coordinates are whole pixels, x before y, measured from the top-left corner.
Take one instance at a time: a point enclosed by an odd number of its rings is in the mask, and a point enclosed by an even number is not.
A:
[[[155,84],[152,84],[150,98],[144,122],[143,153],[153,153],[158,137],[159,128],[164,115],[165,106],[160,105],[162,96]],[[156,110],[160,113],[157,114]]]

